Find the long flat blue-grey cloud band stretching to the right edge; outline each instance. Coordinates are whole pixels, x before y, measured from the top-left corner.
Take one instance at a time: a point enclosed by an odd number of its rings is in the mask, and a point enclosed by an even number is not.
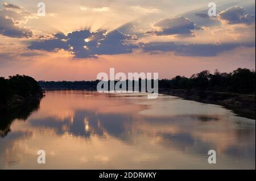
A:
[[[177,56],[217,56],[219,53],[237,47],[255,47],[255,43],[224,43],[224,44],[187,44],[179,45],[175,42],[141,43],[144,52],[174,52]]]

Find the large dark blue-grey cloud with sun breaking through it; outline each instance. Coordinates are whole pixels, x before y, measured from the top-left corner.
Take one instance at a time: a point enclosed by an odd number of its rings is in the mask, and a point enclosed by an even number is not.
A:
[[[89,30],[74,31],[64,35],[57,33],[54,39],[33,41],[28,49],[56,51],[59,49],[72,52],[76,58],[97,57],[101,54],[131,53],[137,45],[127,43],[134,37],[125,35],[117,30],[112,32]]]

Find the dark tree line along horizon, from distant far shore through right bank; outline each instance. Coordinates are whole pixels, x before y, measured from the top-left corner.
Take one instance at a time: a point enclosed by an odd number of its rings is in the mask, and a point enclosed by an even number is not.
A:
[[[98,82],[99,80],[74,82],[39,81],[39,85],[46,89],[96,90]],[[253,94],[255,93],[255,70],[238,68],[231,73],[220,73],[220,71],[216,70],[213,74],[209,70],[204,70],[193,74],[190,78],[177,75],[172,79],[161,79],[158,83],[160,89],[197,89]]]

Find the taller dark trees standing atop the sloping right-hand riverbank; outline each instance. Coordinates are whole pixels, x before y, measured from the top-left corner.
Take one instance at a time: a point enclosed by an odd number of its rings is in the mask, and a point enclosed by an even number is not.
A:
[[[163,79],[159,87],[250,94],[255,93],[255,70],[238,68],[231,73],[215,70],[214,74],[204,70],[190,78],[176,76],[171,80]]]

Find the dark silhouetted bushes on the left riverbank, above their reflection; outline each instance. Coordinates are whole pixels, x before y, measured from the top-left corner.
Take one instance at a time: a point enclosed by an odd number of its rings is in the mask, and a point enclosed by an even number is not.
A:
[[[23,104],[26,100],[41,98],[43,90],[34,78],[26,75],[0,77],[0,108]]]

